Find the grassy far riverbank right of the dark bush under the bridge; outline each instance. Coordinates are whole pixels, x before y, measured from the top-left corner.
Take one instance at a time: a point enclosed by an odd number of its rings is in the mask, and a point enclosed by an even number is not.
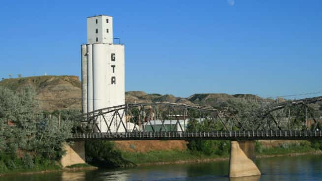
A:
[[[134,163],[136,166],[141,165],[164,165],[164,164],[180,164],[180,163],[200,163],[212,161],[229,160],[229,153],[223,154],[204,154],[198,151],[149,151],[149,152],[133,152],[120,151],[122,158]],[[278,156],[297,156],[303,154],[322,154],[322,151],[314,144],[308,141],[299,141],[288,143],[285,142],[274,147],[263,146],[260,142],[256,142],[257,158],[278,157]]]

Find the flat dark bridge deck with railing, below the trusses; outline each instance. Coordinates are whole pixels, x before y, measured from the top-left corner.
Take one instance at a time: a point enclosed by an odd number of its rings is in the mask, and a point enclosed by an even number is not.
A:
[[[89,140],[310,140],[321,139],[320,131],[264,130],[264,131],[211,131],[211,132],[127,132],[77,133],[68,141]]]

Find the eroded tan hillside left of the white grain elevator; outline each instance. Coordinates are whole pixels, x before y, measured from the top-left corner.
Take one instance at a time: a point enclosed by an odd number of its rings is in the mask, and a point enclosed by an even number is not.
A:
[[[34,76],[4,79],[0,86],[19,90],[32,86],[42,110],[81,109],[81,83],[77,76]]]

